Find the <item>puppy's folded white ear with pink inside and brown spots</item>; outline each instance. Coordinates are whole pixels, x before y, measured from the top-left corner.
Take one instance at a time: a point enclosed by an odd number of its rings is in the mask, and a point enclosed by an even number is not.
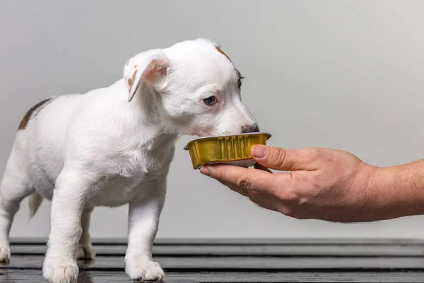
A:
[[[124,67],[124,81],[128,87],[128,101],[136,94],[142,81],[157,88],[167,76],[169,59],[162,50],[150,50],[129,59]]]

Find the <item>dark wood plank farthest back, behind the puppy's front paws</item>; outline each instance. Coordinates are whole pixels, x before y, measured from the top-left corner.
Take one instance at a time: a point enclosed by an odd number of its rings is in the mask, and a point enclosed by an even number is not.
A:
[[[95,245],[98,255],[124,255],[126,245],[105,246]],[[12,255],[43,255],[46,252],[45,245],[13,245]],[[359,245],[298,245],[291,246],[154,246],[153,254],[157,256],[334,256],[334,257],[422,257],[424,256],[424,244],[420,246],[359,246]]]

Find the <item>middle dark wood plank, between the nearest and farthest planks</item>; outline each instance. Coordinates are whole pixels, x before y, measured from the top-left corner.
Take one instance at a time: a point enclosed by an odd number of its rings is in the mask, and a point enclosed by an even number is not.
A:
[[[41,269],[43,257],[39,255],[16,255],[0,269]],[[165,270],[192,271],[296,271],[296,270],[424,270],[424,258],[270,258],[270,257],[154,257]],[[84,270],[124,270],[124,257],[99,256],[92,262],[79,261]]]

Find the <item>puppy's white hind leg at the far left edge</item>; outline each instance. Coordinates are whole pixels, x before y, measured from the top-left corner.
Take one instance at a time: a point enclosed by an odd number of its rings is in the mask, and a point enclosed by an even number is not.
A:
[[[0,262],[10,258],[9,232],[20,202],[34,192],[25,169],[25,154],[13,144],[0,185]]]

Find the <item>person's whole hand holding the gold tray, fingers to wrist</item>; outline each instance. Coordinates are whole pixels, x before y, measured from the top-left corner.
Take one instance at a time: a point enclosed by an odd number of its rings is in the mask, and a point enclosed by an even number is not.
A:
[[[375,185],[379,168],[346,151],[254,146],[252,170],[203,166],[201,173],[261,207],[298,219],[355,222],[390,218],[384,190]],[[272,173],[266,168],[277,171]]]

